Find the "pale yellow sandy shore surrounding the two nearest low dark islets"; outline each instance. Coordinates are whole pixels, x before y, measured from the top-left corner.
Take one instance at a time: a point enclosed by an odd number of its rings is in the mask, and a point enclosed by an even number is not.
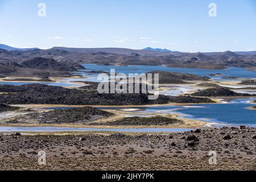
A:
[[[220,99],[215,100],[217,103],[225,103]],[[209,103],[208,103],[209,104]],[[137,107],[155,107],[155,106],[183,106],[183,105],[201,105],[201,104],[161,104],[161,105],[122,105],[122,106],[102,106],[102,105],[90,105],[93,107],[101,107],[105,111],[109,111],[110,113],[113,113],[113,117],[108,117],[108,118],[102,118],[102,119],[97,119],[95,122],[111,122],[120,118],[125,118],[125,115],[154,115],[154,116],[162,116],[162,117],[171,117],[171,118],[176,118],[179,119],[180,121],[183,121],[184,123],[181,125],[164,125],[164,126],[92,126],[92,125],[82,125],[82,124],[25,124],[25,123],[18,123],[18,124],[5,124],[2,123],[0,126],[2,127],[72,127],[72,128],[94,128],[94,129],[141,129],[141,128],[170,128],[170,129],[175,129],[175,128],[191,128],[191,129],[196,129],[196,128],[204,128],[204,127],[212,127],[210,125],[210,122],[204,122],[196,119],[188,119],[188,118],[183,118],[184,114],[177,114],[174,112],[166,113],[166,114],[157,114],[157,113],[137,113]],[[51,109],[52,107],[84,107],[84,105],[11,105],[11,106],[16,106],[16,107],[22,107],[22,110],[26,111],[29,109],[35,109],[36,111],[48,111],[47,108]],[[129,108],[128,110],[109,110],[107,109],[108,107],[113,107],[113,108]],[[134,108],[134,109],[133,109]],[[40,109],[45,109],[45,110],[40,110]],[[20,110],[19,110],[20,111]],[[11,111],[13,112],[13,111]],[[8,112],[7,112],[8,113]],[[5,113],[4,113],[5,114]],[[24,114],[27,114],[26,112]],[[13,116],[15,118],[15,115]],[[12,118],[12,119],[13,119]]]

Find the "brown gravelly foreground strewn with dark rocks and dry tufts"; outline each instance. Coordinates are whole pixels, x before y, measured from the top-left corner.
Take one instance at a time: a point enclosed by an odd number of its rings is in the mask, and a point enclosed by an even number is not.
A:
[[[0,135],[1,170],[256,170],[256,129],[173,134]],[[38,152],[46,152],[46,165]],[[216,151],[217,165],[210,165]]]

